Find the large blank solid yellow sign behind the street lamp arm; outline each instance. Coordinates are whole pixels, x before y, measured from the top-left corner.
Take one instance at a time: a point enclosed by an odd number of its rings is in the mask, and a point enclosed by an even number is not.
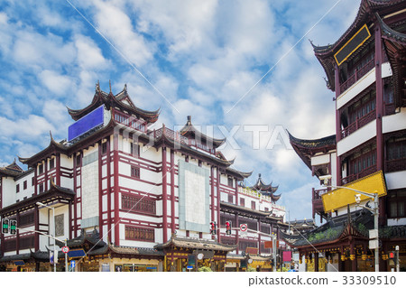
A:
[[[367,193],[375,193],[376,191],[379,197],[386,195],[386,185],[382,171],[374,172],[373,174],[361,178],[357,181],[348,183],[344,187],[364,191]],[[324,211],[328,213],[339,208],[346,207],[347,204],[355,204],[355,194],[359,194],[355,190],[338,188],[321,195]],[[361,194],[361,201],[367,199],[369,199],[367,196]]]

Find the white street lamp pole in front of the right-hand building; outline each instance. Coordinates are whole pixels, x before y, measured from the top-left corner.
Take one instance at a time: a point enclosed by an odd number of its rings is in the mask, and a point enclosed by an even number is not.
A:
[[[374,230],[376,233],[376,237],[379,240],[379,234],[378,234],[378,217],[379,217],[379,200],[378,200],[378,191],[374,191],[374,193],[371,192],[365,192],[365,191],[361,191],[361,190],[356,190],[353,188],[349,188],[349,187],[345,187],[345,186],[332,186],[332,185],[328,185],[328,180],[331,179],[331,175],[324,175],[324,176],[320,176],[318,178],[321,181],[324,181],[323,186],[324,187],[330,187],[330,188],[342,188],[342,189],[346,189],[346,190],[353,190],[355,192],[358,192],[359,194],[355,195],[355,202],[356,205],[358,206],[359,203],[361,202],[361,194],[374,199],[374,208],[370,209],[369,207],[365,207],[363,206],[364,209],[368,209],[370,211],[372,211],[374,213]],[[379,272],[379,243],[375,245],[374,248],[374,255],[375,255],[375,272]]]

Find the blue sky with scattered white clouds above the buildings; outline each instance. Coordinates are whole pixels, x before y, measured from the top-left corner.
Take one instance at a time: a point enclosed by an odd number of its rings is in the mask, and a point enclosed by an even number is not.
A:
[[[336,42],[360,0],[0,0],[0,166],[73,123],[100,81],[174,129],[228,136],[234,168],[279,185],[291,219],[311,218],[318,181],[284,129],[335,133],[333,93],[309,40]],[[207,130],[208,129],[208,130]],[[26,167],[24,167],[26,168]]]

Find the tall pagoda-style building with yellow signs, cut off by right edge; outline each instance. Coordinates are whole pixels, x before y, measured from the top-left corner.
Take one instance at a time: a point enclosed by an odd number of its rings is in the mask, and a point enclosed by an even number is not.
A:
[[[333,189],[379,193],[380,271],[393,267],[387,255],[395,246],[404,269],[406,1],[362,0],[354,23],[337,42],[313,48],[328,88],[336,93],[336,135],[318,140],[291,135],[291,144],[313,175],[332,176],[328,185]],[[328,220],[308,235],[313,247],[299,238],[288,241],[316,271],[324,269],[318,252],[330,261],[328,271],[374,271],[368,246],[374,218],[355,205],[356,192],[332,188],[312,193],[313,217]],[[362,196],[361,205],[370,200]]]

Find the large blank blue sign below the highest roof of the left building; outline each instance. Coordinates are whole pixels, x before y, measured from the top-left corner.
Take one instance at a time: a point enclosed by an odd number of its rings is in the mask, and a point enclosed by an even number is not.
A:
[[[103,125],[105,121],[105,106],[96,108],[88,115],[81,117],[74,124],[69,125],[68,128],[68,141],[78,138],[81,135],[86,134],[88,131],[96,128],[99,125]]]

